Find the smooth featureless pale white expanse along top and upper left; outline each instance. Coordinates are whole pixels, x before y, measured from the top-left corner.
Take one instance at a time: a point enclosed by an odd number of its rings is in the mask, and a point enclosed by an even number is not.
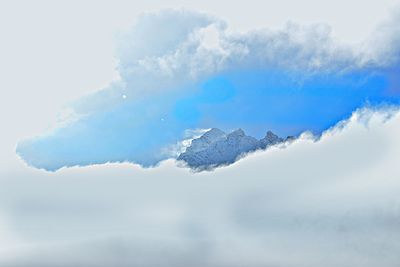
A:
[[[5,128],[13,129],[7,134],[13,145],[21,137],[42,133],[63,106],[116,77],[112,36],[129,28],[143,12],[200,10],[226,19],[235,31],[281,29],[288,20],[301,25],[323,22],[332,26],[335,38],[360,42],[390,15],[396,3],[398,0],[2,2],[0,116],[7,123]],[[24,109],[29,114],[19,111]]]

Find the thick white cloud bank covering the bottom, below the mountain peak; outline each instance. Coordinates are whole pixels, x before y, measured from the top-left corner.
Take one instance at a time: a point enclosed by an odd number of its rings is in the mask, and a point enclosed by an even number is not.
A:
[[[1,266],[397,266],[399,131],[397,108],[363,109],[213,172],[15,169]]]

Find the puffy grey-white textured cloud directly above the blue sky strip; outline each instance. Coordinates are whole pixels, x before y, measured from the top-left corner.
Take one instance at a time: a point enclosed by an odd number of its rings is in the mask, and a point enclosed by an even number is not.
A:
[[[396,25],[396,19],[387,22]],[[381,27],[382,28],[382,27]],[[138,17],[119,35],[120,81],[75,105],[79,112],[104,109],[142,95],[176,91],[222,72],[243,69],[283,69],[302,72],[346,73],[386,68],[397,61],[392,43],[395,26],[360,41],[341,42],[325,23],[286,22],[279,29],[238,31],[222,19],[188,10],[163,10]],[[381,43],[381,45],[371,45]],[[303,75],[303,76],[304,76]]]

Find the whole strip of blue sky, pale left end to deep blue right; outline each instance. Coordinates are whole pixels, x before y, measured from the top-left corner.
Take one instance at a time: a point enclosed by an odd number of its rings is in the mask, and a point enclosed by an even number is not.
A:
[[[398,104],[383,71],[305,75],[248,70],[210,77],[185,93],[157,94],[123,101],[52,134],[20,144],[30,164],[49,170],[105,162],[152,166],[169,157],[168,145],[185,130],[237,128],[262,138],[304,131],[320,134],[366,105]]]

